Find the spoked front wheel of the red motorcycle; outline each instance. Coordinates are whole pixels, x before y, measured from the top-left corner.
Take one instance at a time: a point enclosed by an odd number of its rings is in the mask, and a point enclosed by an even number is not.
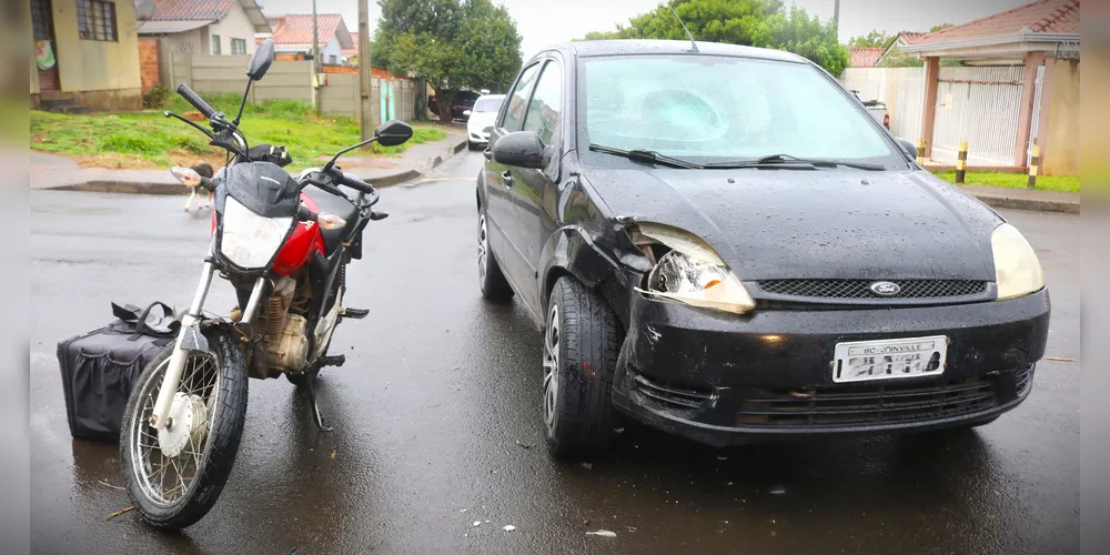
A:
[[[170,408],[171,425],[150,416],[170,362],[170,347],[139,376],[123,414],[120,463],[135,511],[155,528],[200,521],[228,482],[246,420],[246,364],[226,330],[204,331],[210,352],[186,353]]]

